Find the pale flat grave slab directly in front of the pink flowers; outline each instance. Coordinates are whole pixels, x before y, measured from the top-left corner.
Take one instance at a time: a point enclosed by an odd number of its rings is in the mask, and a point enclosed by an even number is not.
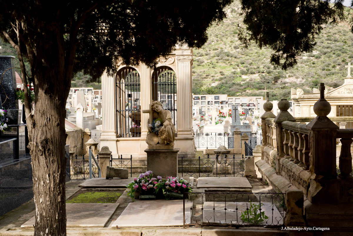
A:
[[[185,202],[190,209],[192,202]],[[190,224],[190,211],[185,211],[185,223]],[[136,200],[129,203],[113,228],[183,226],[183,200]]]

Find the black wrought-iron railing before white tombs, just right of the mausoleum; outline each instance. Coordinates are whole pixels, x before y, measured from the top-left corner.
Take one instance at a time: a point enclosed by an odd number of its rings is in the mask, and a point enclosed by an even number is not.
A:
[[[195,147],[200,149],[218,148],[225,146],[226,148],[234,148],[234,134],[227,133],[205,133],[194,136]]]

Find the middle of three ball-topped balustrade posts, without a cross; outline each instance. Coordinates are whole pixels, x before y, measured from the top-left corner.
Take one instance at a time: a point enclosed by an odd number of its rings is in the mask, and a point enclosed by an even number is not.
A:
[[[275,158],[276,165],[276,173],[280,175],[280,158],[283,158],[285,154],[283,153],[283,140],[284,140],[284,132],[282,132],[282,122],[283,121],[291,121],[295,122],[295,118],[288,112],[290,107],[287,99],[281,99],[278,103],[278,108],[280,109],[280,113],[274,119],[276,123],[276,142],[277,142],[277,158]]]

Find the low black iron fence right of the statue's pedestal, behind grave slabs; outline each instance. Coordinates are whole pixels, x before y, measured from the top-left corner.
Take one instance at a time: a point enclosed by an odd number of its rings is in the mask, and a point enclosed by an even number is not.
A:
[[[181,177],[236,177],[244,176],[244,157],[215,155],[198,158],[178,158],[178,175]]]

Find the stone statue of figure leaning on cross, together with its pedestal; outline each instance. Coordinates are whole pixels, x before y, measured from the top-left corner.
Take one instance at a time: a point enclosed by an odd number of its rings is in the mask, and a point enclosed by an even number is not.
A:
[[[152,101],[150,109],[143,110],[142,113],[150,114],[147,124],[149,133],[146,137],[148,148],[145,150],[147,170],[151,170],[155,177],[177,176],[180,148],[174,148],[175,127],[172,113],[164,110],[159,101]]]

